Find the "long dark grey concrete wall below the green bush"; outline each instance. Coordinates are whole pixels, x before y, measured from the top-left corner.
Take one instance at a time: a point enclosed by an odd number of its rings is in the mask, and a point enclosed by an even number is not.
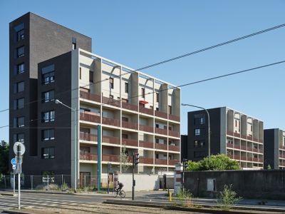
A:
[[[207,190],[208,179],[214,179],[214,191]],[[242,198],[285,200],[285,170],[185,172],[185,188],[195,196],[216,197],[230,184]]]

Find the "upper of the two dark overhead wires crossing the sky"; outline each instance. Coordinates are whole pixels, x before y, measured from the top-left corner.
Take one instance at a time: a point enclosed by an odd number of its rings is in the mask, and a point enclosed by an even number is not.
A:
[[[176,57],[174,57],[174,58],[169,58],[169,59],[167,59],[167,60],[165,60],[165,61],[160,61],[160,62],[157,62],[157,63],[153,63],[153,64],[151,64],[151,65],[149,65],[149,66],[144,66],[144,67],[142,67],[142,68],[138,68],[138,69],[135,69],[135,70],[133,70],[133,71],[142,71],[142,70],[145,70],[146,68],[151,68],[151,67],[154,67],[154,66],[161,65],[161,64],[163,64],[163,63],[168,63],[168,62],[170,62],[170,61],[175,61],[175,60],[180,59],[180,58],[184,58],[184,57],[191,56],[191,55],[194,55],[194,54],[199,54],[199,53],[201,53],[201,52],[203,52],[203,51],[208,51],[208,50],[210,50],[210,49],[215,49],[215,48],[217,48],[217,47],[219,47],[219,46],[224,46],[224,45],[227,45],[227,44],[231,44],[231,43],[234,43],[234,42],[236,42],[236,41],[240,41],[240,40],[242,40],[242,39],[247,39],[247,38],[252,37],[252,36],[257,36],[257,35],[259,35],[259,34],[264,34],[264,33],[266,33],[266,32],[273,31],[273,30],[275,30],[275,29],[279,29],[279,28],[284,27],[284,26],[285,26],[285,24],[280,24],[280,25],[278,25],[278,26],[273,26],[273,27],[271,27],[271,28],[269,28],[269,29],[264,29],[264,30],[262,30],[262,31],[257,31],[257,32],[255,32],[255,33],[253,33],[253,34],[248,34],[248,35],[246,35],[246,36],[242,36],[242,37],[239,37],[239,38],[237,38],[237,39],[232,39],[232,40],[229,40],[229,41],[225,41],[225,42],[222,42],[222,43],[220,43],[220,44],[216,44],[216,45],[214,45],[214,46],[209,46],[209,47],[204,48],[204,49],[199,49],[199,50],[197,50],[197,51],[193,51],[193,52],[188,53],[188,54],[183,54],[183,55],[181,55],[181,56],[176,56]],[[123,74],[121,74],[121,75],[119,75],[119,76],[124,76],[124,75],[126,75],[126,74],[128,74],[128,73],[123,73]],[[95,83],[100,83],[100,82],[107,81],[107,80],[108,80],[108,79],[104,79],[104,80],[96,81]],[[89,84],[87,84],[87,85],[85,85],[85,86],[81,86],[81,87],[90,86],[90,85],[93,85],[93,84],[95,84],[95,83],[89,83]],[[57,96],[58,96],[59,94],[68,93],[68,92],[70,92],[70,91],[78,90],[79,88],[80,88],[80,87],[78,87],[78,88],[71,88],[71,89],[69,89],[68,91],[62,91],[62,92],[58,93]],[[38,99],[38,100],[35,100],[35,101],[30,101],[30,102],[28,102],[28,103],[24,103],[24,106],[29,105],[29,104],[31,104],[31,103],[36,103],[36,102],[38,102],[38,101],[40,101],[40,100]],[[0,113],[1,113],[1,112],[4,112],[4,111],[9,111],[9,109],[10,109],[10,108],[6,108],[6,109],[4,109],[4,110],[1,110]],[[11,109],[11,110],[12,110],[12,109]]]

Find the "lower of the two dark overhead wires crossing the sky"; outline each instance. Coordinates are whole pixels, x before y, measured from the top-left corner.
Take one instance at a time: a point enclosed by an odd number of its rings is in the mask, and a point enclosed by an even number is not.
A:
[[[197,84],[197,83],[202,83],[202,82],[206,82],[206,81],[212,81],[212,80],[217,79],[217,78],[224,78],[224,77],[227,77],[227,76],[233,76],[233,75],[237,75],[237,74],[240,74],[240,73],[246,73],[246,72],[249,72],[249,71],[255,71],[255,70],[258,70],[260,68],[266,68],[266,67],[269,67],[269,66],[275,66],[275,65],[278,65],[278,64],[281,64],[281,63],[285,63],[285,60],[284,61],[278,61],[278,62],[275,62],[275,63],[269,63],[269,64],[266,64],[266,65],[263,65],[263,66],[257,66],[257,67],[254,67],[254,68],[248,68],[248,69],[245,69],[245,70],[242,70],[242,71],[226,73],[226,74],[219,75],[219,76],[214,76],[214,77],[211,77],[211,78],[205,78],[205,79],[202,79],[200,81],[194,81],[194,82],[190,82],[190,83],[185,83],[185,84],[182,84],[180,86],[175,86],[175,87],[172,87],[172,88],[165,88],[165,89],[161,89],[161,90],[158,90],[158,91],[152,91],[152,92],[149,92],[149,93],[145,93],[145,95],[153,94],[153,93],[157,93],[157,92],[161,92],[161,91],[167,91],[167,90],[174,89],[174,88],[182,88],[182,87],[194,85],[194,84]],[[140,97],[140,96],[142,96],[142,95],[132,96],[131,98],[136,98],[136,97]],[[115,100],[113,102],[118,102],[118,101],[119,100]],[[110,102],[110,103],[112,103],[112,102]],[[110,104],[110,103],[102,103],[102,104],[100,104],[100,106],[104,106],[104,105]],[[78,109],[76,111],[80,111],[80,109]],[[70,113],[70,112],[66,112],[66,113]],[[66,113],[61,113],[59,115],[63,115],[63,114],[66,114]],[[41,120],[41,118],[36,118],[36,119],[31,120],[31,121],[27,121],[27,123],[28,122],[32,122],[32,121],[37,121],[37,120]],[[9,125],[1,126],[0,128],[6,128],[6,127],[9,127]],[[26,127],[26,128],[37,128],[37,127]],[[45,127],[45,128],[48,128],[48,127]],[[56,128],[66,128],[66,127],[56,127]],[[21,128],[19,128],[19,129],[21,129]]]

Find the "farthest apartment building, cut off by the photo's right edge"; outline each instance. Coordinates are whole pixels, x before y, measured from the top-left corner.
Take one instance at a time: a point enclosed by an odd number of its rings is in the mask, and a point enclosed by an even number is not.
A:
[[[285,131],[264,129],[264,168],[285,169]]]

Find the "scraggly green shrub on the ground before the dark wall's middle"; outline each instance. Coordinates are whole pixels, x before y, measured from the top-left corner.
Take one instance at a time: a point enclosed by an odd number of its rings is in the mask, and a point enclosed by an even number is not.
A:
[[[223,210],[229,210],[232,208],[232,205],[235,205],[241,200],[241,197],[237,197],[237,193],[232,190],[231,185],[224,185],[224,190],[218,195],[218,204],[219,207]]]

